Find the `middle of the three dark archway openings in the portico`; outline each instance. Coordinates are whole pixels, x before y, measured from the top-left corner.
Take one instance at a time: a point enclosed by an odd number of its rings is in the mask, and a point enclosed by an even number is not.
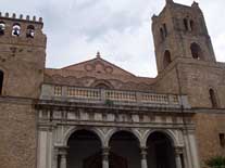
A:
[[[120,131],[110,140],[110,168],[140,168],[140,150],[137,138]]]

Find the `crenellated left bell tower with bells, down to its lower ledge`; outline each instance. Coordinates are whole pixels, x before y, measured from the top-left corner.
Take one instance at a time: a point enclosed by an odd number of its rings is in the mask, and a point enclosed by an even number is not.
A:
[[[35,98],[46,63],[42,18],[0,13],[0,96]]]

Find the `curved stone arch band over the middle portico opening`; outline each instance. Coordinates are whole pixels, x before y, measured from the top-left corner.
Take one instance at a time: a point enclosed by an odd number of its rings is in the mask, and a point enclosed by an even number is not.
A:
[[[140,132],[138,130],[135,130],[135,129],[126,129],[126,128],[124,128],[124,129],[115,128],[115,129],[111,129],[107,133],[105,139],[104,139],[104,145],[105,146],[109,146],[110,140],[113,137],[113,134],[115,134],[117,132],[121,132],[121,131],[125,131],[125,132],[132,133],[137,139],[138,143],[141,144],[141,135],[140,135]]]

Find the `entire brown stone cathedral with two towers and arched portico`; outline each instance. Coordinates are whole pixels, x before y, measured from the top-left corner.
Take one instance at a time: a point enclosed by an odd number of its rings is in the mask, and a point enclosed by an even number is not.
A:
[[[205,168],[225,156],[225,63],[197,2],[166,0],[152,16],[155,78],[100,53],[46,68],[42,26],[0,14],[1,168]]]

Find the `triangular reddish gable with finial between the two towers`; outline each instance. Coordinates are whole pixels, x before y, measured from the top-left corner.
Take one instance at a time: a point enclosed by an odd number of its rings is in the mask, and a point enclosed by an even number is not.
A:
[[[65,70],[77,70],[77,72],[89,72],[97,74],[109,74],[109,75],[121,75],[121,76],[135,76],[134,74],[101,59],[100,53],[97,54],[97,57],[73,64],[61,69]]]

